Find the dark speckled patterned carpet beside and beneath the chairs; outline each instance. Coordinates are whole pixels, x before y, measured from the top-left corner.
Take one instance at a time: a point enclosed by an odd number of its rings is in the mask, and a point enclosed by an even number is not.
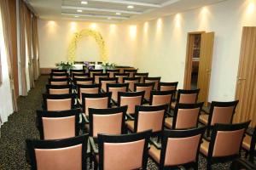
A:
[[[18,99],[19,112],[9,116],[9,121],[1,127],[0,138],[0,169],[30,169],[26,163],[25,140],[39,139],[35,127],[35,111],[41,109],[42,93],[47,77],[40,77],[28,96]],[[206,159],[200,156],[199,169],[206,169]],[[216,164],[212,169],[229,169],[230,164]],[[157,169],[154,162],[148,160],[148,169]]]

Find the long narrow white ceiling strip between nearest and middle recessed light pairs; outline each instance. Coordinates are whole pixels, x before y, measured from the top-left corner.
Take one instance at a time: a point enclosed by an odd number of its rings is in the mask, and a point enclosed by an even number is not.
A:
[[[87,7],[67,6],[67,5],[62,5],[61,8],[81,9],[81,10],[87,10],[87,11],[101,11],[101,12],[110,12],[110,13],[122,13],[122,14],[143,14],[143,12],[118,10],[118,9],[111,9],[111,8],[87,8]]]

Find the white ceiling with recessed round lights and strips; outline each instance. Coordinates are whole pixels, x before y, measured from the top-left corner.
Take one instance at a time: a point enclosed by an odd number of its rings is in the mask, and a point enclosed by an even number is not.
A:
[[[137,23],[225,0],[25,0],[42,19]],[[87,2],[82,4],[81,1]],[[133,8],[127,8],[132,5]],[[77,10],[82,10],[78,12]],[[117,14],[119,13],[119,15]]]

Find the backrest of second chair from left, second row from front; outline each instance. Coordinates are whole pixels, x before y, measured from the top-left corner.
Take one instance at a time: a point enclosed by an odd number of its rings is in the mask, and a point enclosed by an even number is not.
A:
[[[89,135],[96,138],[99,133],[125,133],[125,114],[127,106],[110,109],[89,109]]]

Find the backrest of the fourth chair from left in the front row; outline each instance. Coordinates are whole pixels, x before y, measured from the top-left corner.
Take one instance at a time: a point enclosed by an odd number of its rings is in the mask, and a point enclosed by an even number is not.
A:
[[[218,124],[212,129],[208,157],[236,158],[241,150],[241,142],[249,122],[239,124]]]

